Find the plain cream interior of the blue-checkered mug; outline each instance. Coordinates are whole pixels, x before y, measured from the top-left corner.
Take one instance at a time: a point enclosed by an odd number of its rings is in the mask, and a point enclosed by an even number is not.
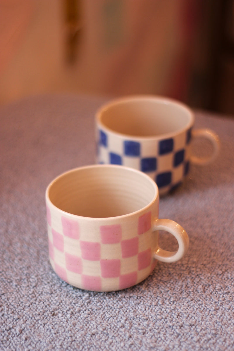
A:
[[[190,127],[192,112],[180,102],[166,98],[120,99],[98,113],[102,126],[125,135],[152,137],[175,133]]]

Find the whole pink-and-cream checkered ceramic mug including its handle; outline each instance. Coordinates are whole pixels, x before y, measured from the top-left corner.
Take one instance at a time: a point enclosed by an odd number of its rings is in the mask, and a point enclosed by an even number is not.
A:
[[[114,291],[149,276],[157,260],[185,254],[185,230],[158,219],[159,193],[145,173],[118,165],[75,168],[46,190],[49,260],[54,271],[80,289]],[[158,245],[158,231],[171,233],[178,250]]]

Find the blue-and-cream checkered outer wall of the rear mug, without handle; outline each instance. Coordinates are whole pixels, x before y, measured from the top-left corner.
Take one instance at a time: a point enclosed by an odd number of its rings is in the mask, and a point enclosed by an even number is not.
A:
[[[188,173],[190,140],[191,129],[174,138],[144,140],[144,143],[113,135],[109,137],[98,130],[98,163],[136,168],[155,180],[160,193],[166,193],[180,184]]]

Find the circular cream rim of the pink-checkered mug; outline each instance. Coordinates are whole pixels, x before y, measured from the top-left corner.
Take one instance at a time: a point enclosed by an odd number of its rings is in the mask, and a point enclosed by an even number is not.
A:
[[[145,178],[149,181],[149,183],[151,183],[153,185],[154,188],[154,194],[153,194],[153,199],[144,207],[141,207],[139,210],[131,212],[131,213],[126,213],[126,214],[122,214],[121,216],[113,216],[113,217],[85,217],[85,216],[80,216],[78,214],[73,214],[73,213],[69,213],[66,212],[64,210],[61,210],[61,208],[55,206],[51,199],[49,198],[49,190],[51,189],[51,187],[53,186],[53,184],[55,182],[57,182],[60,178],[68,175],[69,173],[73,173],[73,172],[77,172],[79,170],[84,170],[84,169],[89,169],[89,168],[118,168],[118,169],[122,169],[124,168],[125,171],[131,171],[133,173],[138,173],[139,175],[141,175],[142,178]],[[67,217],[72,217],[72,218],[80,218],[80,219],[85,219],[85,220],[89,220],[89,221],[98,221],[98,220],[102,220],[102,221],[109,221],[109,220],[116,220],[116,219],[123,219],[123,218],[128,218],[131,216],[135,216],[138,215],[141,212],[145,212],[148,208],[152,207],[152,205],[155,203],[155,201],[159,198],[159,189],[157,184],[155,183],[155,181],[153,179],[151,179],[146,173],[143,173],[139,170],[136,170],[134,168],[131,167],[127,167],[127,166],[122,166],[122,165],[111,165],[111,164],[97,164],[97,165],[87,165],[87,166],[81,166],[81,167],[75,167],[72,168],[68,171],[62,172],[61,174],[59,174],[59,176],[55,177],[47,186],[46,188],[46,193],[45,193],[45,197],[46,197],[46,205],[49,207],[54,208],[54,210],[58,211],[61,214],[66,214]]]

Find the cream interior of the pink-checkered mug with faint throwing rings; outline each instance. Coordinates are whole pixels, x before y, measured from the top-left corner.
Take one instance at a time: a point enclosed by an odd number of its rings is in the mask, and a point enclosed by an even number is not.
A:
[[[149,205],[158,188],[145,174],[115,165],[76,168],[47,188],[48,201],[62,211],[83,217],[123,216]]]

